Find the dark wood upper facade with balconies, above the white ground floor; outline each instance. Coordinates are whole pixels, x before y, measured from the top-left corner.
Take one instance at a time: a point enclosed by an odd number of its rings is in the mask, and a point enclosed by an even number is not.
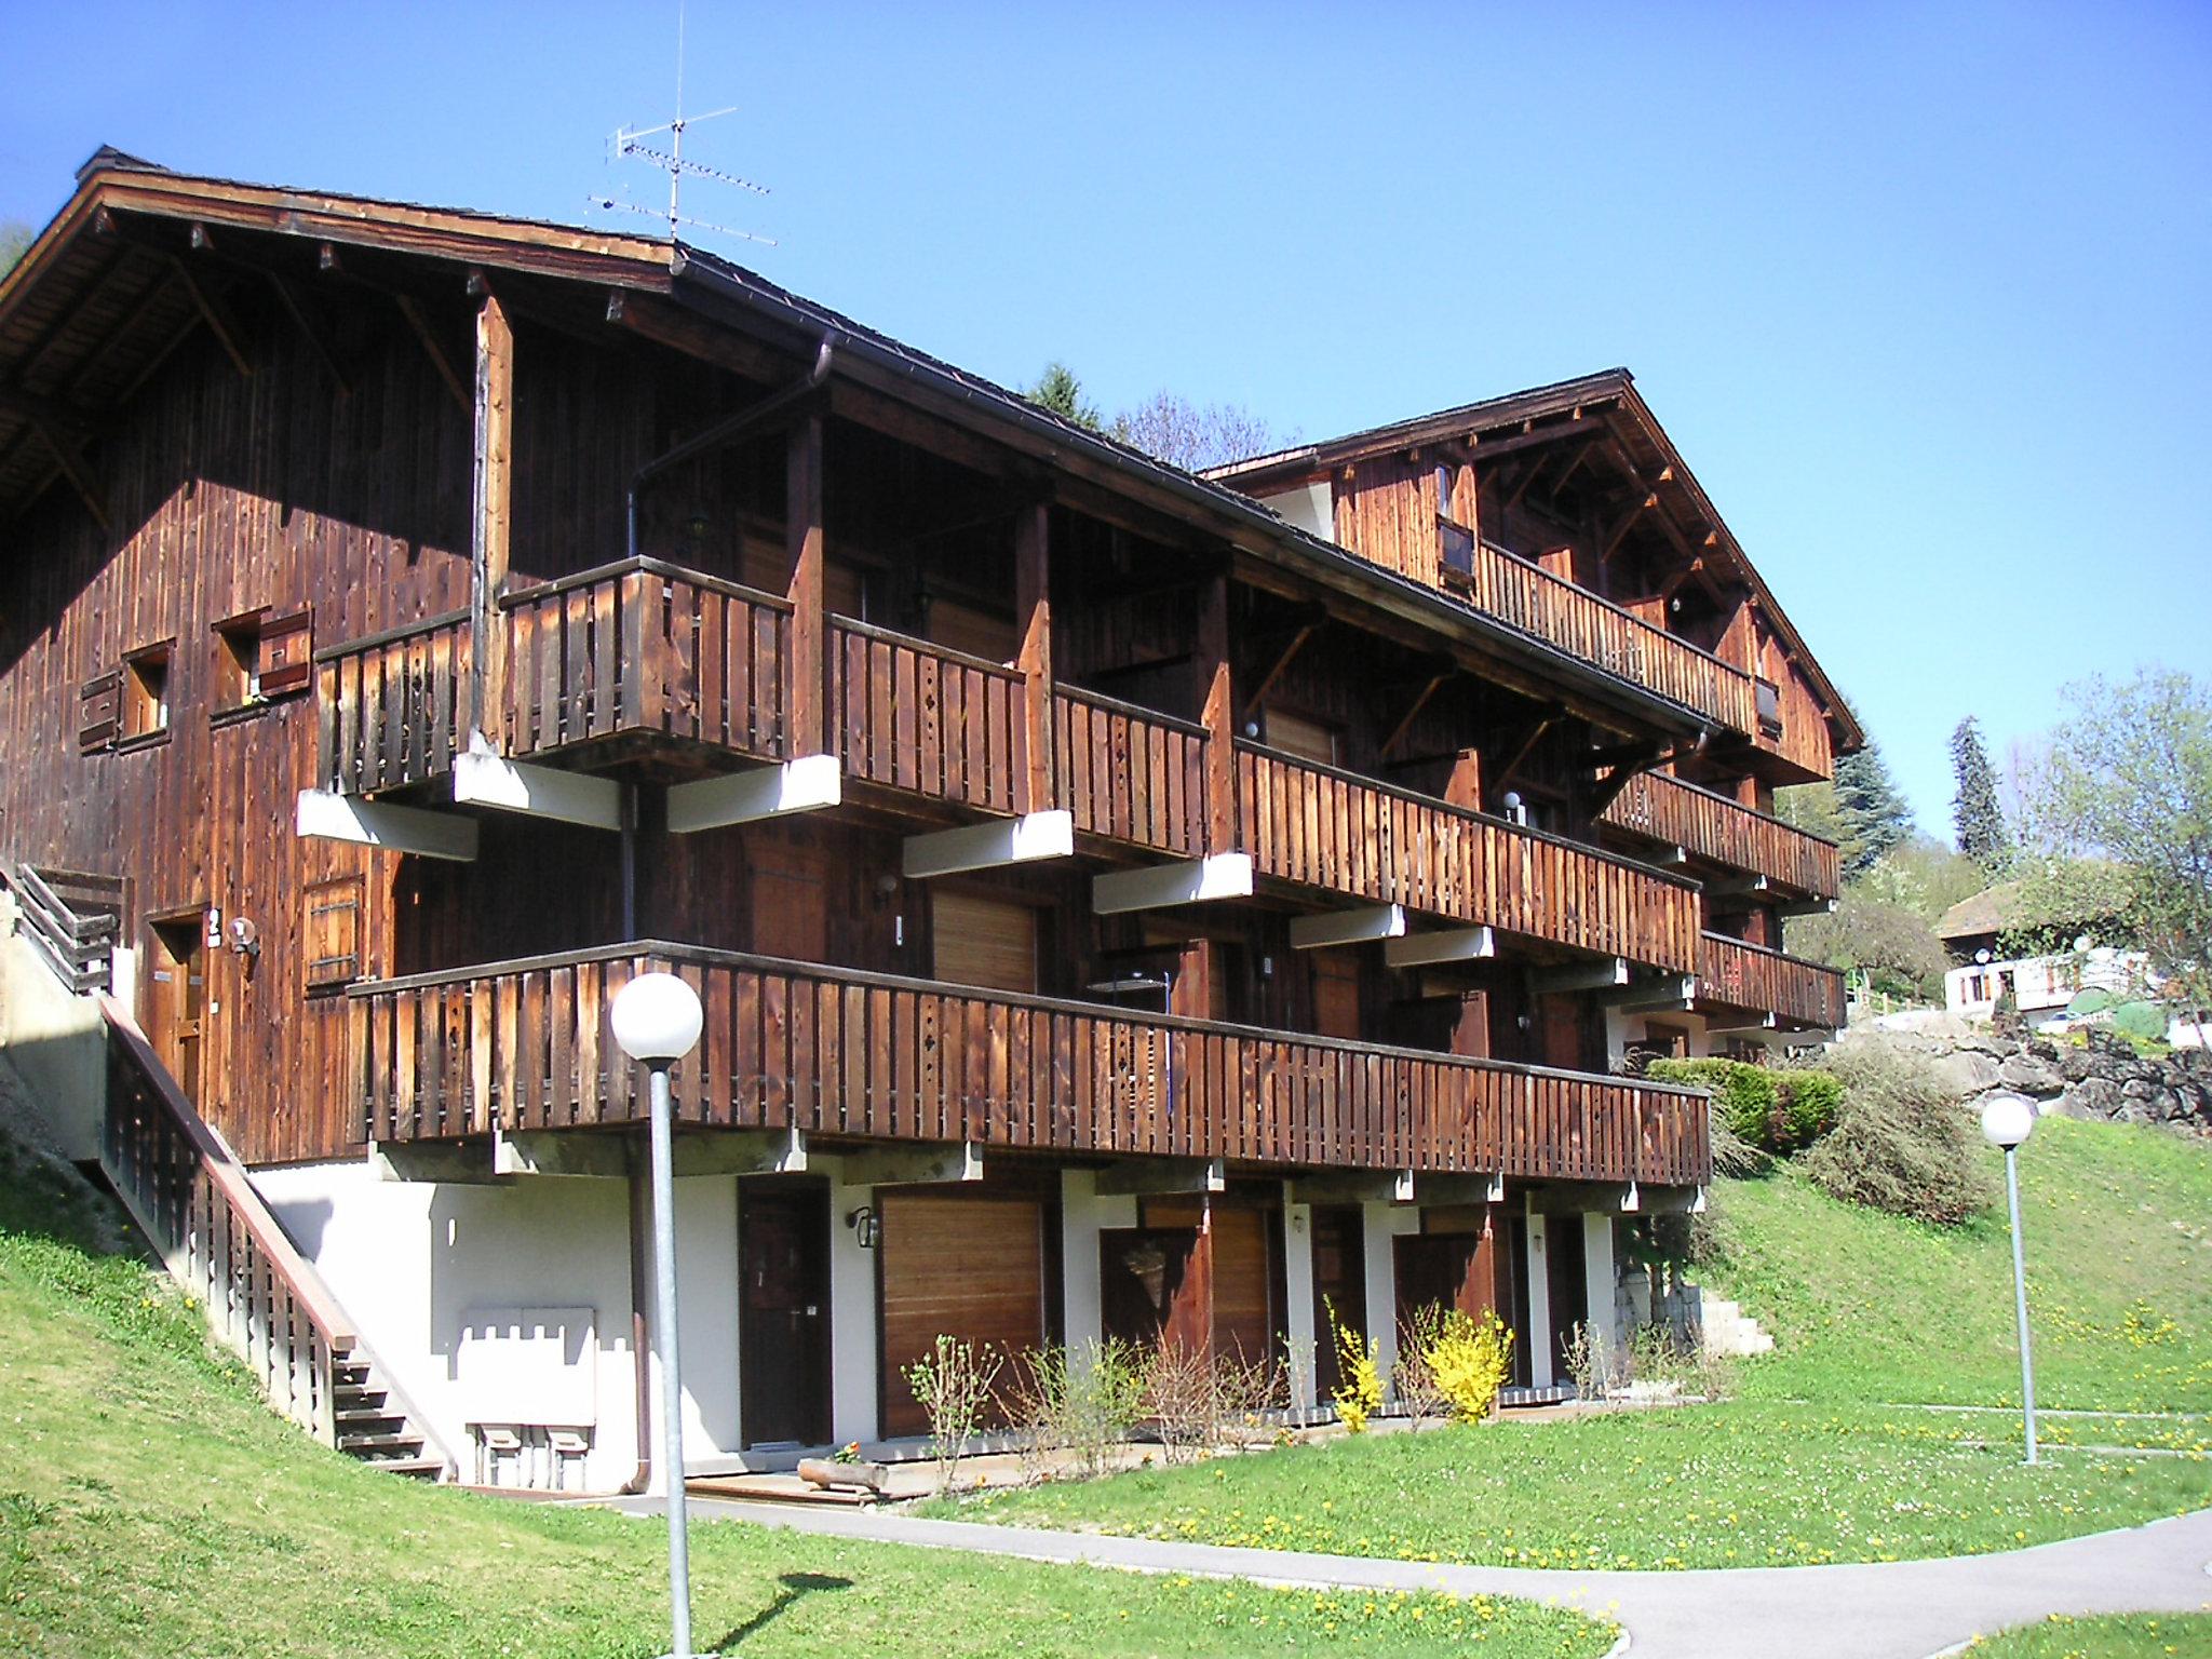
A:
[[[666,960],[708,995],[699,1124],[1701,1181],[1694,1097],[1606,1077],[1604,1006],[1544,987],[1617,958],[1836,1018],[1632,856],[1832,891],[1759,810],[1849,739],[1794,637],[1491,549],[1544,495],[1480,456],[1336,498],[1416,602],[975,385],[659,243],[95,170],[0,283],[0,854],[128,878],[142,971],[201,998],[155,1037],[248,1161],[628,1121],[604,998]],[[478,737],[619,783],[633,830],[471,810],[467,863],[294,832],[310,787],[453,814]],[[670,785],[814,754],[843,805],[668,832]],[[1728,768],[1747,805],[1692,787]],[[914,834],[1048,810],[1073,858],[902,874]],[[1245,900],[1091,900],[1237,852]],[[1024,918],[991,989],[947,982],[933,887]],[[1498,947],[1294,949],[1360,905]],[[257,949],[212,942],[241,918]]]

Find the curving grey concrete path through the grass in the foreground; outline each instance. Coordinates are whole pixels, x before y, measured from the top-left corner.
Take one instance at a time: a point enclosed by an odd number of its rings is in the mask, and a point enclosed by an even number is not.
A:
[[[622,1506],[659,1511],[655,1500],[626,1500]],[[692,1498],[690,1513],[830,1537],[1139,1573],[1551,1599],[1619,1619],[1628,1628],[1632,1659],[1927,1659],[1973,1635],[2033,1624],[2048,1613],[2212,1610],[2212,1511],[2006,1555],[1708,1573],[1431,1566],[712,1498]]]

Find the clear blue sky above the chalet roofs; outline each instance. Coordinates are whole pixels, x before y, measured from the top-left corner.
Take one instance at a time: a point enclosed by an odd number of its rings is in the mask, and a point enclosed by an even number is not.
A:
[[[102,142],[586,217],[675,24],[0,0],[0,219]],[[703,241],[982,374],[1321,438],[1626,363],[1938,834],[1962,714],[2002,763],[2066,679],[2212,668],[2212,7],[692,0],[688,35],[686,104],[741,106],[695,155],[774,188],[688,206],[781,246]]]

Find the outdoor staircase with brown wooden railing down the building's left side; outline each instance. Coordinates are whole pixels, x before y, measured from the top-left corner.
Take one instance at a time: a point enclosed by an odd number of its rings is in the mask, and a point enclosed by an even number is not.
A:
[[[106,947],[113,931],[82,927],[86,918],[69,914],[66,889],[24,880],[35,874],[7,867],[4,885],[27,927],[44,936],[33,942],[46,967],[73,995],[100,1006],[106,1044],[100,1170],[170,1279],[254,1374],[268,1402],[316,1440],[396,1475],[456,1478],[453,1458],[378,1367],[246,1166],[199,1117],[137,1022],[95,989],[106,973],[93,971],[86,960],[93,951],[55,949],[62,940]],[[104,891],[86,887],[93,880],[71,876],[82,891]],[[33,914],[24,898],[40,900],[46,914]],[[104,949],[100,956],[104,969]]]

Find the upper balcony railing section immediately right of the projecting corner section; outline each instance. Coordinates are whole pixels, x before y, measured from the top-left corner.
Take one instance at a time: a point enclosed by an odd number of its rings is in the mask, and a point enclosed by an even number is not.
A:
[[[1018,812],[1022,688],[1004,664],[830,617],[830,719],[845,776]]]

